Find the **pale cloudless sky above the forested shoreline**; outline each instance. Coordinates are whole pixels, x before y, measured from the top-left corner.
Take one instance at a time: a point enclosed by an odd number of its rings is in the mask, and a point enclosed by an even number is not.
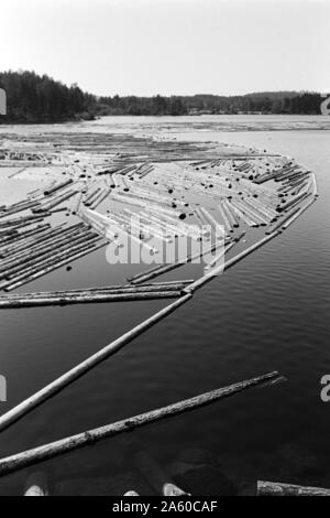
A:
[[[97,95],[330,91],[330,1],[1,0],[0,71]]]

